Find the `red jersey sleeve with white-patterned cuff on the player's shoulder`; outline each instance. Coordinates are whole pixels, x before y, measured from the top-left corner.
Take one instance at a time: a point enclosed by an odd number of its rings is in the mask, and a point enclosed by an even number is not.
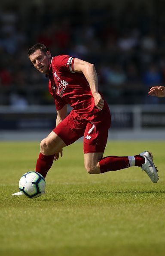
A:
[[[58,55],[53,58],[52,65],[59,72],[67,71],[67,72],[75,73],[73,69],[74,59],[75,58],[69,55]]]

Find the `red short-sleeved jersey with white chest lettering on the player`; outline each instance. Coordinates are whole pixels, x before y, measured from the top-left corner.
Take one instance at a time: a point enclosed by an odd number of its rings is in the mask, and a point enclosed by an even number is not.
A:
[[[49,92],[55,98],[57,110],[69,104],[78,115],[91,116],[100,110],[95,106],[89,83],[83,73],[74,72],[74,59],[68,55],[52,58],[49,67]],[[107,108],[104,101],[104,109]]]

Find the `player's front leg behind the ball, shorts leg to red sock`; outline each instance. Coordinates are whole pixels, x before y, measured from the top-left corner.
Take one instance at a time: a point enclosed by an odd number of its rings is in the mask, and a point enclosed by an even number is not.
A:
[[[39,172],[45,178],[52,166],[55,153],[82,137],[84,130],[85,127],[83,127],[83,123],[79,123],[77,114],[71,111],[48,137],[41,141],[36,172]]]

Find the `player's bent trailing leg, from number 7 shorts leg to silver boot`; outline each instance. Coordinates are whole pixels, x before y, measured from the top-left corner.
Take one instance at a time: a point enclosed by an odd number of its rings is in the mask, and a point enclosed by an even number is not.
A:
[[[106,119],[104,123],[93,122],[88,123],[86,126],[84,161],[87,172],[91,174],[104,173],[135,165],[141,167],[154,183],[158,181],[157,170],[153,163],[152,155],[148,151],[134,156],[107,156],[103,158],[107,136],[108,126],[106,127]]]

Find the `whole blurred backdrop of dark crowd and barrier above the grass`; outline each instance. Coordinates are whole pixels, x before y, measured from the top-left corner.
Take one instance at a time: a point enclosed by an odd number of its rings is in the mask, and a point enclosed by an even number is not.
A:
[[[1,0],[0,140],[55,127],[48,80],[27,58],[38,42],[95,64],[111,139],[165,139],[165,98],[148,96],[165,85],[165,0]]]

